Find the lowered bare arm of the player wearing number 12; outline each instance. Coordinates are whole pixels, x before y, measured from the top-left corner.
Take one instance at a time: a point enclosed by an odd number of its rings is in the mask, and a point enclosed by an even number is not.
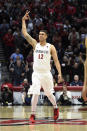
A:
[[[59,79],[62,79],[60,62],[59,62],[58,57],[57,57],[56,49],[55,49],[55,47],[53,45],[51,45],[51,55],[53,57],[56,69],[58,71],[58,77],[59,77]]]

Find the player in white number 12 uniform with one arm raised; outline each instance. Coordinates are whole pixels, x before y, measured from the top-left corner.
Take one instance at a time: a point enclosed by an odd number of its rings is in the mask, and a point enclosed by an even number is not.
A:
[[[38,96],[40,95],[40,89],[43,87],[45,95],[48,97],[50,102],[54,107],[54,120],[57,120],[59,116],[59,109],[56,104],[55,96],[53,95],[53,78],[50,72],[50,59],[51,56],[55,62],[58,79],[62,80],[61,66],[57,58],[56,49],[53,45],[46,42],[47,32],[41,30],[39,32],[39,43],[33,39],[26,29],[26,20],[29,20],[29,11],[26,11],[24,17],[22,18],[22,33],[28,43],[33,47],[34,50],[34,63],[33,63],[33,74],[32,74],[32,86],[30,87],[28,93],[32,94],[31,110],[32,114],[30,116],[30,121],[35,122],[35,111],[38,102]]]

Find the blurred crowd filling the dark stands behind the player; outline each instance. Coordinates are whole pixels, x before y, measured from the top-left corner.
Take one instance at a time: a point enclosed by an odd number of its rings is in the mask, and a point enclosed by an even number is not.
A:
[[[58,54],[64,80],[68,85],[82,85],[84,80],[85,37],[87,35],[86,0],[0,0],[0,41],[3,44],[10,81],[31,84],[32,47],[21,33],[21,20],[30,11],[28,33],[38,41],[41,29],[48,31],[47,42]],[[51,61],[54,83],[57,71]]]

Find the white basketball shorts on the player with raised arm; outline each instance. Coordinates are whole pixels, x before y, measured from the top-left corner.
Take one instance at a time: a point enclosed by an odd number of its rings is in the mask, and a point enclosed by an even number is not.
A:
[[[54,93],[54,84],[51,72],[49,73],[33,72],[32,85],[28,90],[28,94],[40,95],[41,87],[44,90],[44,94],[47,96],[50,96],[52,93]]]

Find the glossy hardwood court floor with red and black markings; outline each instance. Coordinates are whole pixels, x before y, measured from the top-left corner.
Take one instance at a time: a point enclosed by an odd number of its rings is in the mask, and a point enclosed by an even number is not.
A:
[[[87,131],[87,106],[60,106],[53,121],[52,106],[38,106],[36,123],[29,122],[30,106],[0,106],[0,131]]]

